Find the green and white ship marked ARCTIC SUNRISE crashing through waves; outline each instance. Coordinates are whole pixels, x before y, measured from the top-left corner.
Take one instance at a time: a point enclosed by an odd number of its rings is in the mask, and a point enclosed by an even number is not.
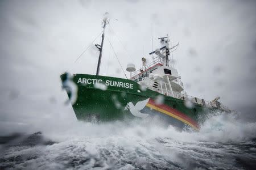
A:
[[[170,47],[168,35],[160,37],[159,48],[149,53],[151,61],[143,57],[138,70],[133,63],[127,64],[130,78],[99,75],[108,23],[109,19],[104,18],[101,45],[96,44],[100,51],[96,75],[66,72],[60,76],[77,120],[111,122],[156,117],[180,130],[199,130],[210,111],[230,111],[220,103],[220,97],[207,101],[187,95],[170,59],[179,44]]]

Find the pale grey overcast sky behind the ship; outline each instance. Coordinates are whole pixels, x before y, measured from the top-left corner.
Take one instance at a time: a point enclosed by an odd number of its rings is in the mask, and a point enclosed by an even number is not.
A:
[[[255,1],[0,1],[1,131],[76,121],[64,105],[59,75],[95,74],[101,22],[110,14],[101,75],[124,78],[122,66],[168,35],[188,95],[213,100],[255,118]],[[120,42],[121,41],[121,42]],[[76,62],[83,50],[90,47]],[[128,74],[129,75],[129,74]]]

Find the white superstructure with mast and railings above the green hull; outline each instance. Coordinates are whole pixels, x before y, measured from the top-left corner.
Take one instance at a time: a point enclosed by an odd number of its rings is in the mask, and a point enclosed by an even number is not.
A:
[[[183,82],[181,82],[181,76],[179,76],[177,69],[174,68],[174,64],[170,62],[170,53],[176,50],[179,44],[169,48],[170,39],[168,35],[160,37],[159,40],[160,48],[150,53],[152,61],[147,61],[148,59],[143,57],[142,67],[137,71],[130,71],[130,79],[141,84],[141,86],[146,86],[150,90],[166,96],[188,100],[210,108],[225,109],[226,107],[217,101],[219,97],[216,98],[217,100],[205,101],[204,99],[187,95],[184,91]]]

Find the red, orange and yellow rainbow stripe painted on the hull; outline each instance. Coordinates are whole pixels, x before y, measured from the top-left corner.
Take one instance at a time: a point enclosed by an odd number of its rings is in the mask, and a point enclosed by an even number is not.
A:
[[[174,117],[177,120],[191,126],[195,130],[199,130],[199,125],[197,124],[196,121],[192,120],[192,118],[188,117],[184,113],[181,113],[180,111],[177,111],[176,109],[169,107],[168,105],[156,104],[154,100],[150,99],[146,106],[160,113],[167,114],[168,116]]]

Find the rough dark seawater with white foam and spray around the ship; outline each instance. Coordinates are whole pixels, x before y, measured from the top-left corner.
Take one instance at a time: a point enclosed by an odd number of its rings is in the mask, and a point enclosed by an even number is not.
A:
[[[199,132],[159,124],[77,122],[1,137],[0,169],[256,169],[256,123],[220,114]]]

